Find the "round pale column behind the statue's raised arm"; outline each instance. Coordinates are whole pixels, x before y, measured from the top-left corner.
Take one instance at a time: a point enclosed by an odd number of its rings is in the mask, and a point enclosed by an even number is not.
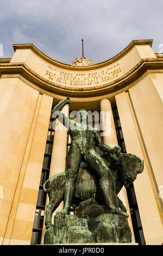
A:
[[[69,116],[69,106],[66,105],[62,111],[67,117]],[[67,150],[67,129],[64,125],[62,125],[58,120],[56,121],[55,125],[55,133],[54,133],[54,141],[53,141],[53,150],[52,150],[52,159],[51,159],[51,167],[49,172],[49,177],[65,172],[65,166],[66,166],[66,150]],[[49,198],[47,196],[46,199],[46,205],[49,202]],[[64,202],[62,201],[58,208],[54,211],[52,215],[52,221],[54,220],[54,215],[57,211],[62,210],[64,206]],[[45,223],[45,217],[44,221]],[[45,224],[43,224],[42,229],[42,238],[41,238],[41,244],[43,244],[43,237],[45,235],[46,227]]]

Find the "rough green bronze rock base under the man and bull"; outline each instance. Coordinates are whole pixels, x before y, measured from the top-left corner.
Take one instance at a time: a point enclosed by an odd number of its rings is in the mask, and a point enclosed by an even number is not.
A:
[[[47,229],[44,244],[130,243],[131,231],[123,215],[105,214],[95,199],[79,204],[78,216],[55,215]]]

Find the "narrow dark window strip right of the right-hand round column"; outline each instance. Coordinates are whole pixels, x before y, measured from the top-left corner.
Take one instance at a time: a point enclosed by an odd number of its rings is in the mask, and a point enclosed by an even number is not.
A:
[[[122,149],[122,153],[126,153],[126,147],[124,144],[122,127],[121,127],[117,107],[112,107],[112,114],[115,122],[118,145],[120,145]],[[146,242],[145,242],[145,237],[143,235],[142,224],[140,220],[139,208],[137,205],[134,185],[131,184],[126,191],[127,191],[128,202],[129,202],[131,221],[133,223],[135,242],[139,243],[139,245],[145,245]]]

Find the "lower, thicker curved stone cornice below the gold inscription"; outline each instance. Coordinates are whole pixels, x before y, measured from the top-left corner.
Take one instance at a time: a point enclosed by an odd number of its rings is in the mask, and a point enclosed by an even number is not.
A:
[[[141,59],[141,61],[134,66],[129,72],[117,80],[103,84],[102,86],[89,88],[74,88],[60,86],[36,74],[24,63],[0,63],[0,76],[2,74],[19,74],[26,78],[35,86],[46,90],[47,92],[58,95],[74,97],[90,97],[99,96],[106,93],[115,93],[116,91],[129,87],[131,83],[139,79],[139,77],[147,70],[163,69],[163,58]]]

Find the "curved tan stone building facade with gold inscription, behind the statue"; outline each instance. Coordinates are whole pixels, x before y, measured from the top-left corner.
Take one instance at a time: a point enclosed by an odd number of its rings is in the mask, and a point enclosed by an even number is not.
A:
[[[0,59],[1,244],[30,245],[37,231],[36,212],[43,211],[41,206],[36,211],[40,180],[45,179],[42,169],[50,176],[65,171],[67,131],[55,130],[52,135],[49,123],[52,107],[69,96],[72,103],[63,109],[66,115],[81,108],[110,113],[105,144],[120,142],[118,118],[127,153],[145,160],[133,189],[146,245],[161,245],[163,58],[152,51],[152,40],[132,41],[115,57],[90,66],[59,63],[32,44],[13,46],[14,56]],[[107,118],[104,114],[103,124]],[[48,168],[43,166],[47,144],[51,147]],[[119,196],[131,215],[126,190]],[[131,217],[129,223],[135,241]],[[45,227],[42,237],[44,232]]]

